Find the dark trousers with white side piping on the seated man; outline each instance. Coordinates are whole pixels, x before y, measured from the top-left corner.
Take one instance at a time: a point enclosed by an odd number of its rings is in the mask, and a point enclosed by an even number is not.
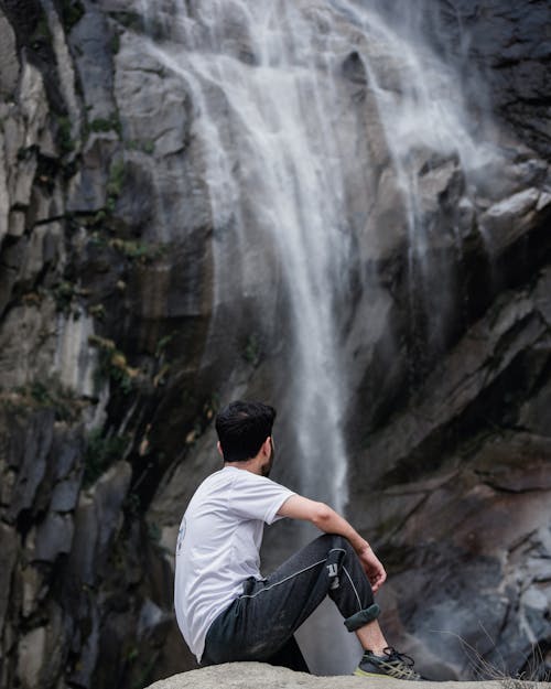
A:
[[[379,615],[356,552],[333,534],[313,540],[268,579],[248,579],[242,594],[210,625],[202,665],[263,660],[305,670],[293,634],[326,595],[349,632]]]

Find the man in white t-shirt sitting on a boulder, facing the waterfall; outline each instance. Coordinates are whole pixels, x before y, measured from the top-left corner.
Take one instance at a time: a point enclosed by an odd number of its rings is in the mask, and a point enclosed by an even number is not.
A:
[[[386,572],[369,543],[327,505],[270,481],[276,410],[234,401],[216,418],[224,467],[197,488],[176,546],[174,605],[199,664],[263,660],[307,670],[293,634],[328,595],[364,657],[355,675],[420,679],[389,647],[374,593]],[[260,574],[263,526],[304,519],[324,535],[267,579]]]

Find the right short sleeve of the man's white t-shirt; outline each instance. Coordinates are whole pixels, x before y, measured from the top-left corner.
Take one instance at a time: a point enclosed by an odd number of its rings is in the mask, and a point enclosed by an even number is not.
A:
[[[289,488],[245,470],[237,470],[230,496],[230,509],[241,519],[260,519],[273,524],[278,510],[294,493]]]

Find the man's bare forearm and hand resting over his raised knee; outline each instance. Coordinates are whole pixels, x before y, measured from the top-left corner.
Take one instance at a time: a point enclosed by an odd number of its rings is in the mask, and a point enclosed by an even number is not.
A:
[[[311,500],[302,495],[292,495],[279,508],[280,517],[290,517],[291,519],[303,519],[311,521],[320,530],[326,534],[337,534],[344,536],[356,551],[364,570],[369,579],[374,593],[380,589],[387,579],[387,573],[371,546],[361,538],[354,527],[346,521],[344,517],[324,503]]]

